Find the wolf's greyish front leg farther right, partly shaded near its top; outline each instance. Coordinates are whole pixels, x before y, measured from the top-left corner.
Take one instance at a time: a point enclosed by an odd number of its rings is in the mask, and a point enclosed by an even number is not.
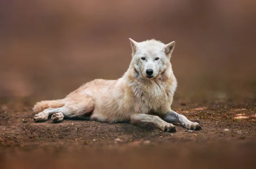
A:
[[[166,116],[164,120],[169,123],[180,123],[183,127],[185,127],[188,130],[201,130],[200,124],[189,121],[184,115],[176,113],[173,110],[169,112],[169,114]]]

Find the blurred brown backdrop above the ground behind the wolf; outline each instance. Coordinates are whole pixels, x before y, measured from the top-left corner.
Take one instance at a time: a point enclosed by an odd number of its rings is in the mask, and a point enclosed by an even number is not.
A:
[[[175,99],[256,97],[253,0],[1,0],[0,97],[60,99],[117,79],[128,38],[176,41]]]

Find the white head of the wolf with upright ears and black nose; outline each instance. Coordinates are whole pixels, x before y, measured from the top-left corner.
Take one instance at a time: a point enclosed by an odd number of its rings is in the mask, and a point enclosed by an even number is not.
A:
[[[165,45],[151,39],[135,42],[129,39],[132,48],[132,61],[135,71],[144,79],[154,79],[170,65],[170,57],[175,41]]]

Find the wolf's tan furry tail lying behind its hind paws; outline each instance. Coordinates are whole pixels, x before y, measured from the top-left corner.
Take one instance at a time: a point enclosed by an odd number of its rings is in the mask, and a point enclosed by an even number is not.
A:
[[[46,100],[46,101],[40,101],[35,104],[33,107],[33,110],[35,113],[42,112],[44,109],[47,109],[49,107],[51,108],[58,108],[64,106],[63,100]]]

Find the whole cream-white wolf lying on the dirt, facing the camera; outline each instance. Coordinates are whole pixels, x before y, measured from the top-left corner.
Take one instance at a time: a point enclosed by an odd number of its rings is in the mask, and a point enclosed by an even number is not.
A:
[[[180,123],[189,130],[201,130],[198,123],[189,121],[171,109],[177,87],[170,57],[175,41],[165,45],[151,39],[135,42],[131,64],[117,80],[96,79],[73,91],[61,100],[41,101],[33,110],[35,121],[46,121],[52,114],[53,122],[67,118],[154,124],[166,132]]]

